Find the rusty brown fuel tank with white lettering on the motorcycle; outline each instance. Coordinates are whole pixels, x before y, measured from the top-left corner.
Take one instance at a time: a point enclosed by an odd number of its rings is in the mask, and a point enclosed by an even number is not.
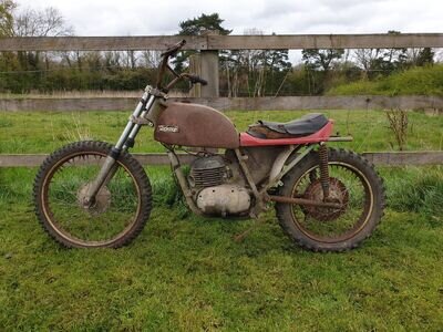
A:
[[[156,121],[154,138],[182,146],[239,146],[238,133],[227,116],[212,107],[189,103],[168,103]]]

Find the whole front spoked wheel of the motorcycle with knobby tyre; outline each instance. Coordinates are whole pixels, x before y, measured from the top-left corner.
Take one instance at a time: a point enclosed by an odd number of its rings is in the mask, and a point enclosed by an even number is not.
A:
[[[79,142],[54,152],[34,181],[35,212],[44,229],[66,247],[117,248],[128,243],[150,217],[152,193],[145,172],[123,153],[114,175],[86,203],[87,188],[112,146]]]

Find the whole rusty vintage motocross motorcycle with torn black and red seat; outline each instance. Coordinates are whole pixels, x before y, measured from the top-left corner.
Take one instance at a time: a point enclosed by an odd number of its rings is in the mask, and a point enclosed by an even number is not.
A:
[[[308,114],[288,123],[260,121],[238,133],[214,108],[167,101],[166,93],[181,80],[206,84],[169,66],[168,59],[184,43],[162,54],[156,87],[146,87],[115,145],[72,143],[43,162],[33,195],[49,235],[66,247],[117,248],[142,231],[152,190],[128,149],[146,125],[168,151],[193,212],[257,218],[275,205],[284,231],[316,251],[351,249],[369,237],[383,215],[383,184],[361,156],[327,147],[344,141],[331,135],[333,122]],[[174,79],[164,86],[166,70]],[[193,155],[189,167],[181,164],[181,148]]]

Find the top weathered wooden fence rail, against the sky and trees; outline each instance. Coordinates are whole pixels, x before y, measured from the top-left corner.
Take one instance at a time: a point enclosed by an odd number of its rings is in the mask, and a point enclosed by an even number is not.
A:
[[[0,39],[0,51],[166,50],[186,39],[185,50],[297,50],[443,48],[443,33],[20,37]]]

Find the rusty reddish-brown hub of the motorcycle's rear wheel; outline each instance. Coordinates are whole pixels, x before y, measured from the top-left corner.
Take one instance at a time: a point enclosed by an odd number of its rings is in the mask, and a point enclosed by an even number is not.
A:
[[[313,180],[305,190],[303,198],[317,201],[323,201],[323,189],[320,179]],[[339,218],[348,208],[349,193],[347,187],[338,178],[329,178],[329,197],[324,200],[337,203],[341,208],[327,208],[316,206],[303,206],[303,211],[319,221],[332,221]]]

